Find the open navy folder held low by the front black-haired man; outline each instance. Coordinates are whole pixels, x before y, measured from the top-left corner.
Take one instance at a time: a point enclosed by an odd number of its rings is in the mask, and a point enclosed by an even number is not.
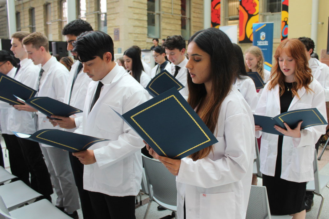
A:
[[[19,138],[58,147],[70,152],[87,150],[94,143],[109,141],[108,139],[100,139],[58,129],[42,129],[32,135],[19,132],[13,133]]]

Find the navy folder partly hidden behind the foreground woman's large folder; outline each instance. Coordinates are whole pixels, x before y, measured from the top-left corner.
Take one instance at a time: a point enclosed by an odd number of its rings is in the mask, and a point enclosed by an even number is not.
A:
[[[160,72],[158,75],[152,78],[152,80],[146,86],[146,90],[156,97],[163,92],[176,87],[178,91],[184,88],[183,84],[179,82],[174,76],[172,76],[166,70]]]

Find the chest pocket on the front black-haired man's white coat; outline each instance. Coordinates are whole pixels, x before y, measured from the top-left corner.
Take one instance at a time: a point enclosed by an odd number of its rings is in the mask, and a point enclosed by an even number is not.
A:
[[[120,130],[123,120],[110,107],[119,114],[122,114],[121,108],[101,103],[98,111],[105,112],[106,116],[104,114],[98,114],[96,116],[96,125],[101,130],[116,133]]]

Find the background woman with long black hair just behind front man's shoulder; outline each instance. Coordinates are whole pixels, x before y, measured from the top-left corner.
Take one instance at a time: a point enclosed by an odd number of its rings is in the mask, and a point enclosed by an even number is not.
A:
[[[146,87],[151,78],[144,72],[142,61],[137,49],[131,47],[123,53],[124,65],[128,73],[143,87]]]

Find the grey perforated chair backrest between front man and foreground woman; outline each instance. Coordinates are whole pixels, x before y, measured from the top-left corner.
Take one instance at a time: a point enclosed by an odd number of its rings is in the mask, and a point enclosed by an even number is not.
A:
[[[150,199],[176,206],[176,177],[158,160],[142,155]]]

